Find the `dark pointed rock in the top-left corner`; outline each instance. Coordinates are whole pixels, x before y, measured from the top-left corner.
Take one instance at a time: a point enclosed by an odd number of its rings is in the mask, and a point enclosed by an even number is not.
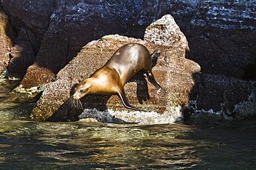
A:
[[[38,51],[44,34],[48,30],[50,17],[55,7],[55,0],[3,0],[1,1],[1,6],[10,17],[12,26],[15,27],[17,32],[21,28],[30,30],[28,37],[33,44],[33,49]]]

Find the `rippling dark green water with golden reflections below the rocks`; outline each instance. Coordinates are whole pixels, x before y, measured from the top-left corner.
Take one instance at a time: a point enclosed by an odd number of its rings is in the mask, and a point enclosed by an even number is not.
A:
[[[33,100],[0,88],[0,169],[256,169],[256,120],[203,125],[20,119]]]

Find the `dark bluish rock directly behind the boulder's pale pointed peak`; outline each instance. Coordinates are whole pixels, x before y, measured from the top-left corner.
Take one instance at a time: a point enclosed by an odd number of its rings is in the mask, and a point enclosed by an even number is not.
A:
[[[172,17],[175,18],[176,23],[179,25],[181,30],[185,32],[199,2],[199,0],[140,1],[138,3],[140,10],[133,18],[131,18],[127,34],[125,35],[142,39],[145,28],[165,14],[171,14]]]

